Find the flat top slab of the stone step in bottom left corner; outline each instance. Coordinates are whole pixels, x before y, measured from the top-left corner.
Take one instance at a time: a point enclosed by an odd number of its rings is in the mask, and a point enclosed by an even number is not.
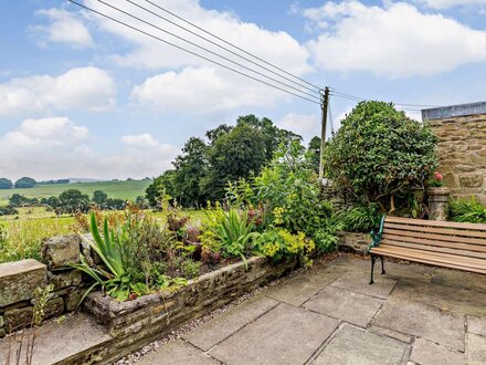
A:
[[[0,364],[7,362],[9,342],[9,338],[0,340]],[[87,314],[76,314],[61,323],[52,321],[35,332],[32,364],[45,365],[66,361],[74,355],[91,353],[94,348],[108,346],[109,342],[110,337],[106,331]],[[24,344],[22,358],[25,356],[23,354]],[[19,348],[19,343],[15,343],[11,351],[14,352],[17,348]]]

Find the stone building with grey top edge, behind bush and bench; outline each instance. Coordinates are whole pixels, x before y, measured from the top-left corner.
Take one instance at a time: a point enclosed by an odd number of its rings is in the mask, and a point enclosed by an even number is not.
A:
[[[422,111],[439,137],[439,171],[452,194],[486,204],[486,102]]]

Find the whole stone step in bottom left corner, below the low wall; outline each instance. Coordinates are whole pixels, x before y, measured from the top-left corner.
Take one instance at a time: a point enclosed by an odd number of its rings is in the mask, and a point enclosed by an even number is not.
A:
[[[7,358],[13,357],[20,347],[21,364],[25,363],[27,338],[32,338],[32,330],[23,335],[23,344],[20,346],[20,335],[0,340],[0,364],[8,364]],[[107,351],[112,338],[94,319],[87,314],[75,314],[57,323],[51,321],[35,330],[33,365],[46,364],[85,364],[102,358]]]

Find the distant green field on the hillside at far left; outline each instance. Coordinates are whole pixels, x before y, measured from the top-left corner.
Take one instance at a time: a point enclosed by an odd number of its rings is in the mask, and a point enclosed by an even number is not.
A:
[[[108,198],[135,200],[138,196],[145,195],[145,189],[150,184],[150,180],[134,180],[36,185],[30,189],[0,190],[0,206],[6,206],[9,202],[9,197],[15,192],[28,198],[41,199],[59,196],[67,189],[78,189],[89,197],[93,196],[95,190],[103,190],[108,195]]]

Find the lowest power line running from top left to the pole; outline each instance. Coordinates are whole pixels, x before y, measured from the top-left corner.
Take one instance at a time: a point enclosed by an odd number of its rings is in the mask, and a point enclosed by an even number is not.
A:
[[[155,40],[158,40],[158,41],[160,41],[160,42],[162,42],[162,43],[169,44],[169,45],[171,45],[171,46],[173,46],[173,48],[176,48],[176,49],[178,49],[178,50],[184,51],[184,52],[187,52],[187,53],[189,53],[189,54],[192,54],[192,55],[196,55],[196,56],[198,56],[198,58],[200,58],[200,59],[202,59],[202,60],[205,60],[205,61],[208,61],[208,62],[214,63],[214,64],[216,64],[216,65],[219,65],[219,66],[221,66],[221,67],[224,67],[224,69],[226,69],[226,70],[230,70],[230,71],[232,71],[232,72],[235,72],[235,73],[237,73],[237,74],[240,74],[240,75],[242,75],[242,76],[249,77],[249,79],[251,79],[251,80],[254,80],[254,81],[260,82],[260,83],[262,83],[262,84],[265,84],[265,85],[267,85],[267,86],[274,87],[274,88],[279,90],[279,91],[284,92],[284,93],[287,93],[287,94],[290,94],[290,95],[297,96],[297,97],[299,97],[299,98],[302,98],[302,100],[305,100],[305,101],[308,101],[308,102],[310,102],[310,103],[314,103],[314,104],[320,105],[320,103],[318,103],[318,102],[316,102],[316,101],[314,101],[314,100],[311,100],[311,98],[308,98],[308,97],[306,97],[306,96],[303,96],[303,95],[296,94],[296,93],[290,92],[290,91],[288,91],[288,90],[282,88],[282,87],[276,86],[276,85],[274,85],[274,84],[271,84],[271,83],[268,83],[268,82],[266,82],[266,81],[263,81],[263,80],[260,80],[260,79],[254,77],[254,76],[252,76],[252,75],[249,75],[249,74],[246,74],[246,73],[244,73],[244,72],[242,72],[242,71],[240,71],[240,70],[233,69],[233,67],[228,66],[228,65],[225,65],[225,64],[223,64],[223,63],[220,63],[220,62],[218,62],[218,61],[211,60],[211,59],[209,59],[209,58],[207,58],[207,56],[204,56],[204,55],[201,55],[201,54],[199,54],[199,53],[197,53],[197,52],[190,51],[190,50],[188,50],[188,49],[184,49],[183,46],[180,46],[180,45],[178,45],[178,44],[175,44],[175,43],[172,43],[172,42],[169,42],[169,41],[167,41],[167,40],[163,40],[163,39],[161,39],[161,38],[159,38],[159,36],[157,36],[157,35],[154,35],[154,34],[151,34],[151,33],[148,33],[148,32],[146,32],[146,31],[144,31],[144,30],[141,30],[141,29],[138,29],[138,28],[136,28],[136,27],[134,27],[134,25],[130,25],[130,24],[128,24],[128,23],[126,23],[126,22],[124,22],[124,21],[122,21],[122,20],[115,19],[115,18],[113,18],[113,17],[110,17],[110,15],[107,15],[107,14],[101,12],[101,11],[97,11],[97,10],[95,10],[95,9],[93,9],[93,8],[86,7],[86,6],[84,6],[84,4],[82,4],[82,3],[77,2],[77,1],[74,1],[74,0],[67,0],[67,1],[70,1],[70,2],[72,2],[72,3],[74,3],[74,4],[76,4],[76,6],[80,7],[80,8],[83,8],[83,9],[89,10],[89,11],[92,11],[92,12],[94,12],[94,13],[101,15],[101,17],[104,17],[104,18],[106,18],[106,19],[109,19],[109,20],[112,20],[112,21],[114,21],[114,22],[116,22],[116,23],[118,23],[118,24],[122,24],[122,25],[127,27],[127,28],[129,28],[129,29],[131,29],[131,30],[135,30],[135,31],[137,31],[137,32],[139,32],[139,33],[141,33],[141,34],[145,34],[145,35],[147,35],[147,36],[150,36],[150,38],[152,38],[152,39],[155,39]]]

